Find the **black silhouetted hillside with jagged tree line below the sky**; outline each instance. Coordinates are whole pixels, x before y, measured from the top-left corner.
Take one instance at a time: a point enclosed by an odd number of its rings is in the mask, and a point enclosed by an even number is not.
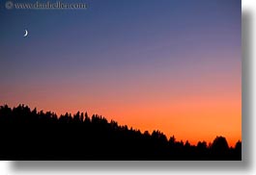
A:
[[[241,141],[234,148],[225,137],[191,145],[87,112],[57,116],[1,106],[0,130],[0,160],[242,160]]]

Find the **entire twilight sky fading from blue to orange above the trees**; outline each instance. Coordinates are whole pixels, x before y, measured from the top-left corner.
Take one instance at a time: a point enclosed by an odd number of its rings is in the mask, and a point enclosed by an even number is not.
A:
[[[8,11],[1,1],[0,105],[99,113],[193,144],[242,139],[240,0],[83,2]]]

